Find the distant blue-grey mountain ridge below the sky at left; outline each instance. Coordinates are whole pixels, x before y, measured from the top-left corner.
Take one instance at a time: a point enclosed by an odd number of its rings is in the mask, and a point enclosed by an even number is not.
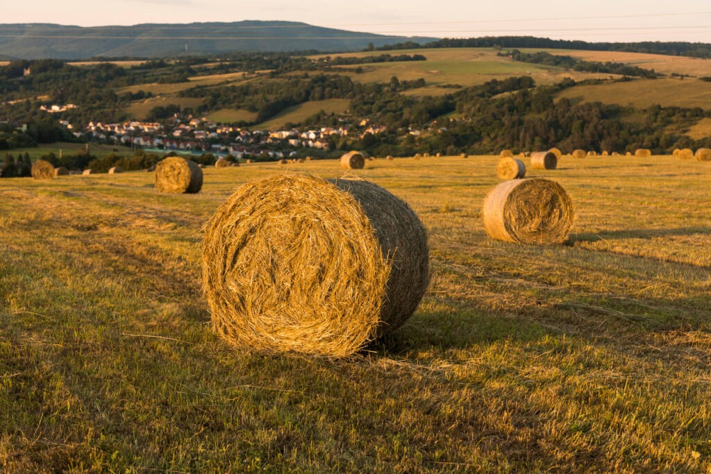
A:
[[[133,26],[0,24],[0,59],[164,58],[239,51],[361,50],[438,38],[384,36],[293,21],[144,23]]]

